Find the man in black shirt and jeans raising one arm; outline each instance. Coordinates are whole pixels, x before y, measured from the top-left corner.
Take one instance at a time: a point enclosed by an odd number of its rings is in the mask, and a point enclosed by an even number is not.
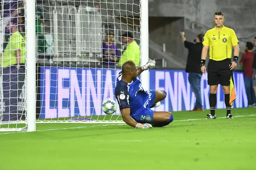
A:
[[[202,99],[201,99],[201,67],[198,63],[201,62],[201,53],[203,49],[203,34],[199,34],[194,40],[195,44],[188,42],[184,37],[184,32],[180,32],[181,40],[185,47],[188,48],[189,54],[186,63],[186,72],[189,73],[189,83],[192,91],[195,94],[196,102],[192,111],[203,111]]]

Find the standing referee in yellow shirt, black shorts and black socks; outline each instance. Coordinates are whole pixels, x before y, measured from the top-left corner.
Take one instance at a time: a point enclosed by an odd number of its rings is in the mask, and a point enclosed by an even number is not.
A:
[[[201,71],[206,73],[205,60],[209,51],[208,63],[208,85],[210,86],[209,104],[210,114],[205,119],[216,119],[215,106],[217,103],[216,93],[218,84],[222,85],[225,94],[225,105],[227,109],[227,119],[233,119],[230,105],[230,78],[233,77],[233,69],[239,56],[239,42],[233,29],[223,25],[225,19],[222,12],[215,12],[215,27],[208,30],[203,39],[203,50],[201,54]],[[234,58],[231,62],[232,46],[234,47]]]

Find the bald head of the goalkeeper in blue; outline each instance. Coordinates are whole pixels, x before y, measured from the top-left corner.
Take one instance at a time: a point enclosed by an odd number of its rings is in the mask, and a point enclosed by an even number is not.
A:
[[[125,79],[137,78],[137,66],[133,61],[127,61],[122,65],[122,75]]]

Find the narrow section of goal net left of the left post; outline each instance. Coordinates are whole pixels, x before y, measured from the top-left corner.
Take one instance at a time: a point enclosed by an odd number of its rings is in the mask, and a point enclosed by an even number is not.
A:
[[[23,1],[0,3],[0,131],[26,128],[25,12]]]

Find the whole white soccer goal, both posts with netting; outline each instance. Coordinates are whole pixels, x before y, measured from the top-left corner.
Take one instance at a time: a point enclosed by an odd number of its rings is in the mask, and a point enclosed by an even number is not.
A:
[[[139,60],[134,57],[138,66],[148,61],[148,0],[3,0],[2,20],[8,13],[7,1],[18,3],[19,12],[12,18],[17,18],[14,25],[26,42],[26,62],[22,63],[22,88],[15,79],[18,95],[9,95],[16,97],[14,114],[6,108],[15,103],[3,102],[6,78],[1,72],[0,132],[35,131],[36,123],[122,123],[119,107],[113,115],[106,115],[101,103],[116,100],[115,81],[123,57],[139,56]],[[6,45],[10,38],[6,38],[6,26],[1,27],[1,44]],[[8,34],[11,37],[13,32]],[[131,45],[135,45],[132,49],[138,45],[140,51],[128,51]],[[16,46],[11,50],[20,50]],[[19,77],[20,68],[14,69]],[[148,90],[149,71],[140,79]]]

